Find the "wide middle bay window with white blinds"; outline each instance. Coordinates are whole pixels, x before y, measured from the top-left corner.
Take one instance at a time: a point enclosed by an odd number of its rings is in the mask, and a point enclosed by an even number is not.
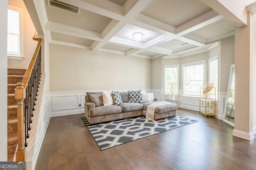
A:
[[[183,95],[200,96],[200,87],[204,86],[205,61],[182,64]]]

